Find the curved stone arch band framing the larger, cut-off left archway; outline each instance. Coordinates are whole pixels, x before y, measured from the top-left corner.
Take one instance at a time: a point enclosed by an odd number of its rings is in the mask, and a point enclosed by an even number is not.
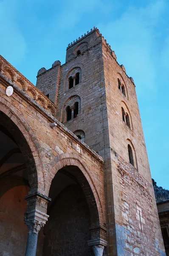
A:
[[[38,181],[43,180],[42,163],[39,158],[37,148],[39,147],[39,143],[34,133],[31,131],[30,126],[25,119],[23,119],[23,116],[21,116],[18,111],[14,111],[7,108],[6,105],[3,105],[1,102],[0,115],[1,118],[6,120],[6,122],[3,122],[1,126],[3,126],[3,128],[6,129],[9,134],[11,134],[19,146],[23,157],[25,158],[26,167],[28,170],[28,182],[30,186],[29,194],[33,194],[38,191],[38,185],[42,186],[42,181],[39,183]]]

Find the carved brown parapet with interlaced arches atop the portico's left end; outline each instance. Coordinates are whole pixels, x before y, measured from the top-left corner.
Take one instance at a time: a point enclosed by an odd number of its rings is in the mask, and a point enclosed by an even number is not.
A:
[[[56,114],[56,105],[46,97],[41,90],[34,86],[25,76],[14,68],[3,56],[0,55],[0,73],[8,80],[17,85],[28,96],[34,99],[42,108],[45,108],[52,115]]]

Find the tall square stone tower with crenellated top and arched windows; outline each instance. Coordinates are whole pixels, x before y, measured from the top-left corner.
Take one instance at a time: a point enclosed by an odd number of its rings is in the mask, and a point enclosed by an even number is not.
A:
[[[107,250],[163,256],[135,84],[97,28],[69,44],[65,64],[42,68],[37,87],[56,118],[104,158]]]

